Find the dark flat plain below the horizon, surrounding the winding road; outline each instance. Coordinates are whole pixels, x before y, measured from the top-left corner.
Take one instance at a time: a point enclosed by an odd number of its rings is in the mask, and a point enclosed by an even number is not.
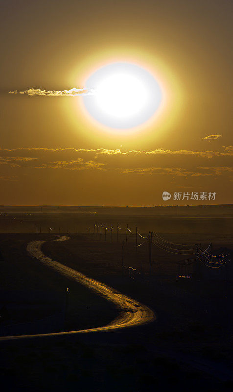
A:
[[[46,241],[42,251],[48,257],[156,313],[150,324],[118,331],[0,342],[5,390],[230,391],[233,262],[219,270],[201,266],[197,276],[195,252],[196,244],[205,249],[212,243],[213,254],[227,252],[232,259],[232,233],[232,205],[0,207],[5,335],[16,324],[36,332],[38,320],[52,321],[42,325],[43,332],[56,332],[102,326],[117,317],[111,302],[31,257],[26,246],[35,240]],[[54,241],[58,234],[70,240]],[[194,247],[194,254],[177,254],[174,249],[183,247],[174,244],[193,244],[187,248]]]

